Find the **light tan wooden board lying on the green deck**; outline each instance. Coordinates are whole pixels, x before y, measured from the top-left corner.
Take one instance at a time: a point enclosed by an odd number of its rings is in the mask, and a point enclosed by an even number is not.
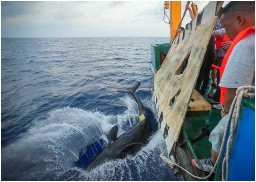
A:
[[[194,100],[194,101],[193,101]],[[202,95],[194,89],[189,105],[191,111],[209,111],[211,105],[207,102]]]

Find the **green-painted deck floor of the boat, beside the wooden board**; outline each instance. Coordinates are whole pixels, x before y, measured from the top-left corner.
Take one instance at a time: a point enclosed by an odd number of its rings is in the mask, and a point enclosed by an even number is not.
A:
[[[214,93],[216,91],[215,88],[212,88],[210,86],[210,83],[211,83],[211,78],[207,87],[208,89],[203,95],[205,99],[209,99],[208,97],[209,93]],[[220,112],[221,110],[212,108],[209,111],[196,111],[196,112],[192,111],[188,113],[182,125],[180,139],[184,140],[185,138],[189,138],[189,139],[197,138],[202,134],[201,129],[206,125],[208,126],[207,129],[209,129],[209,131],[212,131],[221,119]],[[179,141],[179,142],[182,142],[182,141]],[[186,144],[186,150],[189,157],[189,163],[191,159],[210,158],[211,143],[209,142],[209,135],[206,135],[202,139],[199,139],[196,141],[188,141]],[[182,158],[182,156],[180,156],[179,158]],[[189,165],[191,165],[191,163]],[[192,168],[191,167],[187,168],[191,173],[194,173],[197,176],[200,176],[200,175],[202,177],[204,176],[203,174],[194,170],[193,167]],[[183,173],[183,175],[186,175],[186,174]],[[188,175],[186,175],[185,178],[189,181],[196,180],[194,178],[190,178]],[[209,178],[209,180],[213,181],[214,175],[212,175]]]

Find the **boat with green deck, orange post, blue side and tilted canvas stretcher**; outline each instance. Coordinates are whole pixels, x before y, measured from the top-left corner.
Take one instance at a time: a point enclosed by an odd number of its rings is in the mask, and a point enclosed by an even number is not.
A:
[[[187,5],[190,1],[187,1]],[[216,169],[209,175],[199,173],[191,159],[210,158],[209,133],[221,119],[220,110],[207,102],[213,92],[209,82],[205,94],[196,91],[195,83],[205,56],[210,34],[217,20],[223,1],[210,1],[197,13],[192,1],[195,18],[186,24],[185,30],[177,33],[181,18],[181,2],[165,1],[165,10],[170,5],[171,41],[166,44],[151,44],[153,74],[152,99],[155,102],[158,127],[163,132],[168,156],[161,156],[176,176],[185,181],[198,180],[255,180],[255,99],[253,94],[237,101],[233,109],[238,122],[228,122],[223,146]],[[166,15],[167,16],[167,15]],[[195,27],[196,30],[195,30]],[[232,115],[233,113],[233,115]],[[231,132],[233,130],[234,132]],[[229,138],[233,138],[230,143]],[[228,155],[228,156],[227,156]],[[228,158],[228,160],[227,160]]]

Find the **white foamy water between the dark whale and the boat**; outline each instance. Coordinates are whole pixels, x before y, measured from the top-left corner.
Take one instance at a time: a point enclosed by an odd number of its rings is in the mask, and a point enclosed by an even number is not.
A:
[[[159,130],[151,137],[149,143],[142,147],[142,149],[134,156],[129,155],[124,159],[106,161],[101,166],[98,166],[89,172],[78,168],[76,168],[76,170],[80,173],[80,180],[132,181],[134,176],[137,176],[137,180],[143,180],[143,175],[145,175],[145,173],[148,175],[155,175],[155,173],[159,173],[157,170],[159,171],[161,167],[168,168],[168,165],[166,165],[159,157],[161,153],[160,147],[165,147],[165,144],[162,132]],[[151,165],[148,165],[148,163]],[[163,174],[160,173],[158,175]],[[159,177],[159,180],[161,180],[161,178],[163,178],[163,176]]]

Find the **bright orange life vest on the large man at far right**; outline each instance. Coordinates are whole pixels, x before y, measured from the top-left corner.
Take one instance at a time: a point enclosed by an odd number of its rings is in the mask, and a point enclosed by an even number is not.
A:
[[[242,31],[239,32],[239,34],[237,34],[237,36],[234,38],[231,46],[228,48],[227,50],[227,53],[225,54],[224,58],[223,58],[223,61],[222,61],[222,64],[221,64],[221,67],[219,69],[219,73],[220,73],[220,80],[221,80],[221,77],[223,75],[223,72],[225,70],[225,66],[227,64],[227,61],[228,61],[228,58],[234,48],[234,46],[241,40],[243,39],[247,34],[249,33],[252,33],[254,32],[255,33],[255,25],[253,26],[250,26]],[[221,93],[220,93],[220,103],[224,105],[224,100],[225,100],[225,92],[226,92],[226,88],[225,87],[220,87],[220,90],[221,90]]]

